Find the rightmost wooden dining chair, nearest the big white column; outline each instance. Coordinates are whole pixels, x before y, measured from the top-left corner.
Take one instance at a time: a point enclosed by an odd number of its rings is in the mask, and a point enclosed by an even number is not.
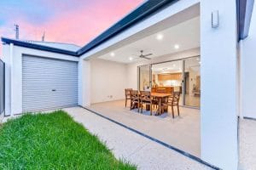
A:
[[[180,99],[180,92],[173,92],[170,97],[168,97],[166,102],[162,103],[162,106],[167,109],[168,106],[172,107],[172,118],[174,118],[174,106],[177,106],[177,115],[179,116],[179,99]]]

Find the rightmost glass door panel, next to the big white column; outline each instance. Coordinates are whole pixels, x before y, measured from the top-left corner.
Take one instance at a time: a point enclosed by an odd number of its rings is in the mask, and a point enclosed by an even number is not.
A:
[[[183,97],[184,105],[200,107],[201,99],[200,57],[184,59]]]

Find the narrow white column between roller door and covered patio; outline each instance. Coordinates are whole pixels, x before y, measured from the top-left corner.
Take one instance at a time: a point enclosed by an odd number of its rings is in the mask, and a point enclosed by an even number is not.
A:
[[[90,106],[90,60],[79,60],[79,105]]]

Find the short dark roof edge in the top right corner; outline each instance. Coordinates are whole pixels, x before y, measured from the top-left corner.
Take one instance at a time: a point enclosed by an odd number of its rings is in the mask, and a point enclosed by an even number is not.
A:
[[[238,40],[248,36],[254,0],[236,0]]]

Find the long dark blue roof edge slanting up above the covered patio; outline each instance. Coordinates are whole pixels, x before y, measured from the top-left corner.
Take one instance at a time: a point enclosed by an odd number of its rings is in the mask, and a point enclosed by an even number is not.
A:
[[[155,12],[159,11],[161,8],[166,7],[171,3],[176,3],[179,0],[148,0],[147,2],[143,3],[141,6],[133,10],[130,14],[127,14],[122,20],[119,20],[113,26],[108,28],[108,30],[104,31],[98,37],[93,39],[91,42],[87,43],[83,48],[80,48],[77,53],[82,55],[92,48],[96,48],[102,42],[108,41],[108,39],[116,36],[121,31],[125,31],[131,26],[134,26],[141,20],[144,20],[150,14],[154,14]]]

